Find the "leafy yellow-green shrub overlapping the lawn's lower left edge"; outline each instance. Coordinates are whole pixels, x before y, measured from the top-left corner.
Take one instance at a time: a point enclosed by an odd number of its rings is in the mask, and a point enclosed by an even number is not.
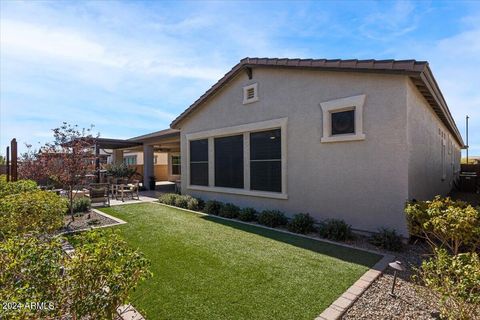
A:
[[[92,231],[75,238],[75,254],[66,266],[71,313],[78,319],[114,319],[116,308],[151,275],[150,262],[112,232]]]

